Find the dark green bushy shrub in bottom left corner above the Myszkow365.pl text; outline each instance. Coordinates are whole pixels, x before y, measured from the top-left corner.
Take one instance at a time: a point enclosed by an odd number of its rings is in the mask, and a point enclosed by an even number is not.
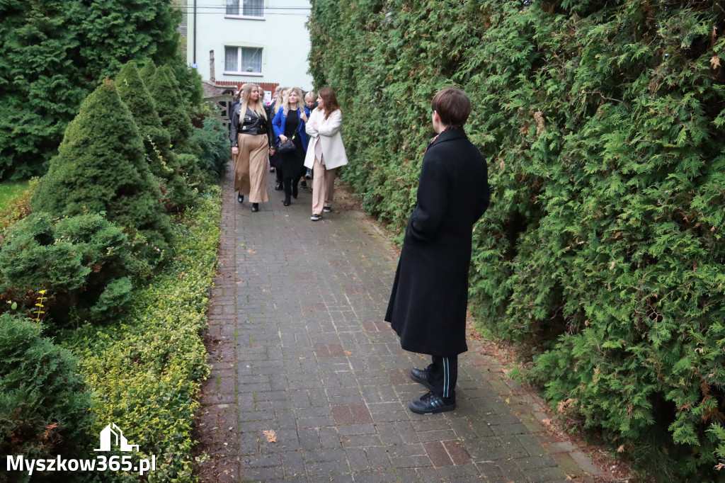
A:
[[[42,329],[29,318],[0,315],[0,453],[91,458],[98,442],[88,437],[91,398],[75,357],[41,337]],[[23,481],[22,473],[4,469],[0,482]]]

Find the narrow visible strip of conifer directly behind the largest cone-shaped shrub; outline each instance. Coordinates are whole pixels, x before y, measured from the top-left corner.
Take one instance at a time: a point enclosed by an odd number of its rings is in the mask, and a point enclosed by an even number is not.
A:
[[[118,94],[136,121],[149,168],[154,176],[162,180],[162,193],[170,207],[191,205],[194,193],[181,176],[181,166],[170,149],[169,133],[162,128],[161,120],[154,107],[154,100],[144,81],[138,75],[136,62],[126,63],[116,76]]]

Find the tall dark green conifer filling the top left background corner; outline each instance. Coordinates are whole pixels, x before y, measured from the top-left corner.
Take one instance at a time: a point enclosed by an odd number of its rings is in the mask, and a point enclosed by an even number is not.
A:
[[[42,174],[99,80],[130,59],[169,62],[170,0],[0,2],[0,177]]]

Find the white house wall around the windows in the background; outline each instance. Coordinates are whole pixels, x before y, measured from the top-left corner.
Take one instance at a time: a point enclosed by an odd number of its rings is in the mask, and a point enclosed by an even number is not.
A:
[[[240,0],[243,1],[243,0]],[[210,80],[210,51],[214,51],[215,80],[279,83],[312,88],[307,74],[310,34],[305,22],[310,15],[307,0],[265,0],[263,20],[235,18],[226,14],[227,0],[196,0],[196,49],[194,49],[194,0],[188,0],[187,61]],[[261,47],[261,75],[225,73],[225,46]],[[196,50],[196,52],[194,51]]]

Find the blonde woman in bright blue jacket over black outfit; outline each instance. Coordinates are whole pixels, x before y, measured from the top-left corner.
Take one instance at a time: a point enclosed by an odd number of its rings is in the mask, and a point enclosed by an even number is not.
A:
[[[307,149],[307,132],[305,123],[307,110],[302,102],[302,91],[297,87],[291,87],[282,98],[281,108],[272,121],[272,127],[278,144],[291,139],[294,149],[291,152],[279,152],[284,183],[284,205],[289,206],[290,197],[297,199],[297,183],[299,178],[305,174],[305,150]]]

